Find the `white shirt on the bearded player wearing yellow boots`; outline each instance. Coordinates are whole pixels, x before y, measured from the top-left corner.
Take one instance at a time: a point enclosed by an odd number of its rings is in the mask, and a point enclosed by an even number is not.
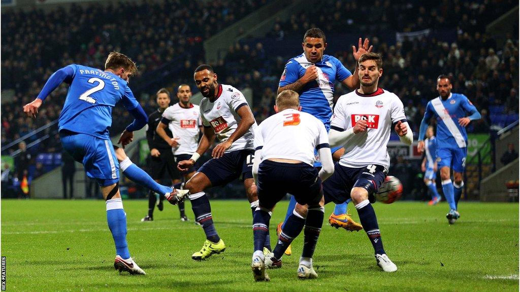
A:
[[[217,88],[217,99],[211,102],[209,98],[200,101],[200,115],[204,127],[212,127],[216,137],[225,142],[238,128],[240,116],[237,110],[249,107],[248,102],[237,88],[220,84]],[[231,144],[227,152],[253,149],[254,130],[256,122],[245,134]]]

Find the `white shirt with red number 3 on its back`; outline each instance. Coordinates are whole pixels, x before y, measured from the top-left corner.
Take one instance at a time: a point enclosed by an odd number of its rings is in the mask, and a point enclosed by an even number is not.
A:
[[[294,109],[266,118],[255,131],[255,150],[262,149],[260,161],[269,158],[314,164],[314,150],[329,147],[323,123],[311,114]]]

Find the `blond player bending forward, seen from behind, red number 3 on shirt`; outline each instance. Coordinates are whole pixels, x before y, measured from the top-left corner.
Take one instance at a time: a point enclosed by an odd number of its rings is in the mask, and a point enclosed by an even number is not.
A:
[[[286,193],[296,202],[308,205],[307,218],[298,214],[296,221],[304,221],[304,247],[297,275],[315,278],[312,257],[323,223],[323,194],[321,181],[334,171],[327,129],[311,114],[301,112],[298,94],[282,91],[276,98],[277,114],[268,117],[255,131],[255,163],[253,176],[257,181],[259,205],[253,216],[254,254],[251,267],[256,281],[268,281],[263,247],[269,232],[272,209]],[[313,166],[314,151],[318,151],[321,170]],[[280,258],[285,248],[301,231],[301,222],[285,222],[278,238],[285,245],[277,245],[270,258]],[[294,221],[294,222],[293,222]]]

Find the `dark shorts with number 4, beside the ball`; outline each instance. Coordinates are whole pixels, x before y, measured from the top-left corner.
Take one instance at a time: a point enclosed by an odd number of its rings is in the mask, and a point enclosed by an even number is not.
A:
[[[381,165],[368,165],[361,168],[352,168],[336,163],[334,174],[323,182],[323,197],[325,204],[334,202],[341,204],[350,198],[350,191],[354,187],[365,188],[368,191],[370,202],[375,202],[374,193],[381,187],[386,178],[386,169]]]

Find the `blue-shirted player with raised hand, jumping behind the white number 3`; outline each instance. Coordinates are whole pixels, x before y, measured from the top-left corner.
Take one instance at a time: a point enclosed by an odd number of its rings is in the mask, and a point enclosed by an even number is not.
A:
[[[324,55],[327,48],[327,39],[323,31],[318,28],[307,30],[303,37],[303,54],[290,59],[285,65],[280,83],[278,94],[283,90],[293,90],[300,94],[300,105],[302,112],[306,112],[317,117],[327,131],[330,129],[330,118],[332,117],[334,83],[341,82],[348,88],[354,90],[359,87],[359,76],[357,74],[358,67],[354,75],[345,68],[345,66],[333,56]],[[352,46],[353,56],[356,61],[361,55],[370,52],[372,46],[369,47],[368,39],[361,44],[359,38],[358,49]],[[344,153],[342,147],[331,149],[333,158],[338,161]],[[320,167],[319,162],[315,163],[315,167]],[[329,217],[329,223],[336,228],[342,227],[349,231],[359,231],[361,225],[354,222],[349,215],[346,214],[347,204],[349,201],[336,205],[334,213]],[[296,200],[291,196],[291,201],[285,215],[285,221],[293,215]],[[278,233],[285,224],[278,225]],[[286,251],[287,255],[291,254],[290,248]]]

